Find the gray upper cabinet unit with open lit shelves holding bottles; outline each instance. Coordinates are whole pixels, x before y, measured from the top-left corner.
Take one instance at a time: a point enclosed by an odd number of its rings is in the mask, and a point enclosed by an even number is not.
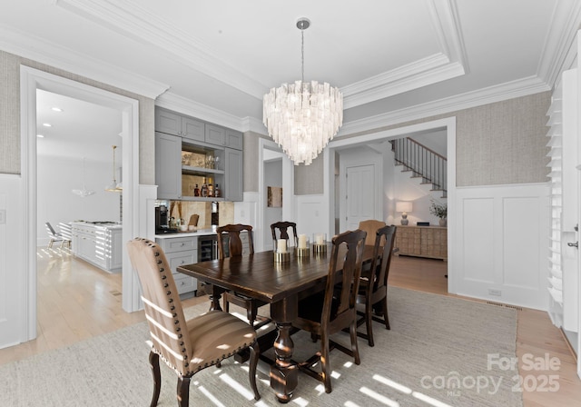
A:
[[[159,199],[242,201],[242,134],[162,108],[155,110]],[[197,195],[203,184],[212,194]],[[220,194],[216,194],[219,190]]]

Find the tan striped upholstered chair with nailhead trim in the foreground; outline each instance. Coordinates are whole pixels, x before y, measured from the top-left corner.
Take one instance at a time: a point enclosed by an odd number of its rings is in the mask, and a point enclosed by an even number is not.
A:
[[[186,320],[162,248],[150,240],[136,238],[127,243],[127,251],[142,285],[143,306],[151,335],[151,407],[157,405],[162,387],[160,356],[177,373],[178,405],[187,407],[192,376],[245,349],[251,352],[250,382],[254,399],[259,400],[261,395],[256,386],[259,349],[251,325],[222,311],[210,311]]]

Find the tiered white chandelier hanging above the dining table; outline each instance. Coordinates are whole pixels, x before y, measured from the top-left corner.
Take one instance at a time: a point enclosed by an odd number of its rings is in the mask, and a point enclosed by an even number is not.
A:
[[[300,18],[301,80],[272,88],[263,98],[263,119],[269,135],[295,165],[309,165],[343,124],[343,95],[339,88],[305,82],[304,30],[310,20]]]

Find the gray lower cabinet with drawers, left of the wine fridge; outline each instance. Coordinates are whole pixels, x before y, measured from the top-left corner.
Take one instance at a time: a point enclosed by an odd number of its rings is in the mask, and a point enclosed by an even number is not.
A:
[[[177,286],[178,293],[192,293],[198,289],[198,281],[188,275],[178,273],[178,266],[184,264],[198,263],[198,237],[163,237],[156,238],[165,253],[170,268],[172,269],[173,280]]]

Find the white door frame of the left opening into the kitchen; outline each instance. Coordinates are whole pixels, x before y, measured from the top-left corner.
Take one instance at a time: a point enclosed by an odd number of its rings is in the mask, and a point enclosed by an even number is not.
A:
[[[36,333],[36,89],[65,94],[95,104],[122,111],[123,120],[123,240],[133,238],[139,227],[139,101],[103,89],[81,84],[71,79],[21,65],[20,67],[20,125],[21,125],[21,202],[25,205],[21,224],[24,229],[22,264],[25,278],[21,303],[25,332],[22,342],[30,341]],[[127,182],[125,182],[127,180]],[[123,255],[123,310],[139,309],[139,282],[131,263]]]

